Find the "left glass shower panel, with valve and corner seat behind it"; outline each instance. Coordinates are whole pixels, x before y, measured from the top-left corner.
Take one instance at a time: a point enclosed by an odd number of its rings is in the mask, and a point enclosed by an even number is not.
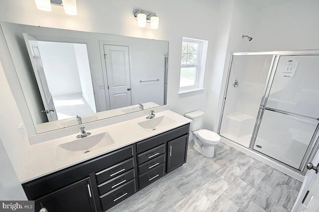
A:
[[[249,147],[273,55],[234,55],[219,134]]]

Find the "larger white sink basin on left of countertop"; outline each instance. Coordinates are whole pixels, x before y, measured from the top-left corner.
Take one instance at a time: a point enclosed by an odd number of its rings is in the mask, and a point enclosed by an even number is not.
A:
[[[66,157],[82,155],[111,144],[114,144],[114,140],[107,132],[88,135],[83,138],[74,138],[73,141],[60,144],[56,147],[56,158],[64,160]]]

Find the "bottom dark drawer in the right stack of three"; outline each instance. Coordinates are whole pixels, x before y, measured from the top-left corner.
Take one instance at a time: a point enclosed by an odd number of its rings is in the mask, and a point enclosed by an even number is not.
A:
[[[164,175],[164,163],[142,175],[139,175],[139,188],[142,189],[147,185],[160,179]]]

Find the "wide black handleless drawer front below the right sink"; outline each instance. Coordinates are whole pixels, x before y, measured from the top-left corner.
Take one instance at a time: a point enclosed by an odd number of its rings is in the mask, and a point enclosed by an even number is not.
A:
[[[152,138],[148,138],[144,141],[140,141],[137,143],[137,153],[145,152],[149,149],[152,149],[160,144],[163,144],[166,141],[173,140],[182,135],[185,135],[189,132],[189,124],[180,126],[176,129],[169,130],[168,132],[161,133]]]

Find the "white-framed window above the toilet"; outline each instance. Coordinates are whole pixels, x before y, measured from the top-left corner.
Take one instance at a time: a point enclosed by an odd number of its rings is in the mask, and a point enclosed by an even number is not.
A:
[[[207,44],[208,41],[183,38],[181,48],[179,92],[202,89]],[[203,46],[206,50],[205,54],[202,54]]]

